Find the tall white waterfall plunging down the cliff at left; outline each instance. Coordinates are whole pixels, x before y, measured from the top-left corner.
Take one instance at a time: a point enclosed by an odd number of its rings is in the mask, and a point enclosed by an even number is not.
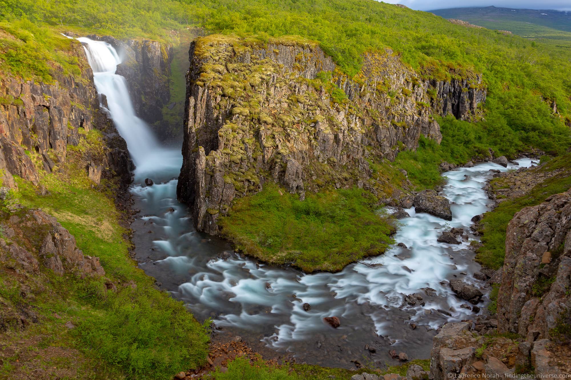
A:
[[[156,165],[157,156],[164,154],[164,150],[156,141],[148,124],[136,116],[127,90],[127,81],[123,76],[115,74],[117,65],[121,63],[119,54],[107,42],[93,41],[86,37],[78,40],[82,42],[93,70],[97,92],[106,96],[107,110],[119,134],[127,142],[135,165],[139,171]],[[105,107],[104,104],[101,106]]]

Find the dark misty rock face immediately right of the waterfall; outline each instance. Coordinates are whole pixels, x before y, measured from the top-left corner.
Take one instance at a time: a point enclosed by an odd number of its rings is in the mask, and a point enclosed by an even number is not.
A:
[[[116,74],[127,80],[136,114],[149,124],[163,120],[163,107],[170,100],[172,46],[152,39],[88,37],[110,43],[123,59]],[[156,132],[160,135],[164,131]]]

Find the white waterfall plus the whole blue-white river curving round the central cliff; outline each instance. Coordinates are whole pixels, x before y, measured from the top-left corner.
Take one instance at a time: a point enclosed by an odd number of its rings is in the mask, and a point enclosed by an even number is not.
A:
[[[137,167],[131,187],[135,208],[140,209],[131,225],[136,259],[199,320],[212,318],[222,328],[220,334],[240,335],[267,356],[351,368],[351,360],[388,362],[391,349],[409,358],[428,358],[437,327],[472,315],[460,307],[465,301],[441,284],[455,277],[478,282],[472,277],[479,265],[473,262],[469,241],[451,246],[436,240],[451,227],[470,228],[471,218],[490,206],[482,190],[492,176],[489,170],[506,171],[511,164],[503,168],[484,163],[444,173],[448,182],[443,193],[452,203],[453,220],[406,210],[411,217],[401,220],[403,226],[395,235],[406,249],[395,246],[339,273],[307,275],[257,264],[235,254],[227,242],[195,231],[188,208],[176,200],[180,150],[161,148],[135,116],[125,80],[115,74],[119,56],[114,48],[86,38],[80,41],[87,45],[97,90],[106,95],[111,118]],[[529,159],[518,162],[530,165]],[[144,187],[147,177],[155,184]],[[432,295],[423,288],[432,288]],[[411,293],[422,294],[425,305],[406,305],[404,297]],[[311,305],[308,312],[304,302]],[[331,316],[340,318],[338,329],[323,322]],[[376,353],[365,351],[364,345]]]

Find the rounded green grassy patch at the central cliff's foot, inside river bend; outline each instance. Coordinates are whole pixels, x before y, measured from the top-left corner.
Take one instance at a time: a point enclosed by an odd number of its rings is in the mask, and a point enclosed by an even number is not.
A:
[[[336,272],[392,244],[391,222],[377,200],[361,189],[297,195],[266,184],[235,201],[221,217],[222,235],[250,256],[271,264],[292,264],[305,272]]]

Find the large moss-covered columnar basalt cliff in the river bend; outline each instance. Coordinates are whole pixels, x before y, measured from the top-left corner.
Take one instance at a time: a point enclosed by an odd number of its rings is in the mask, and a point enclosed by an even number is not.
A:
[[[235,197],[276,181],[291,193],[324,185],[382,191],[369,164],[440,142],[429,115],[478,116],[481,77],[424,80],[392,51],[368,53],[348,78],[311,42],[212,35],[190,48],[180,200],[199,231]]]

